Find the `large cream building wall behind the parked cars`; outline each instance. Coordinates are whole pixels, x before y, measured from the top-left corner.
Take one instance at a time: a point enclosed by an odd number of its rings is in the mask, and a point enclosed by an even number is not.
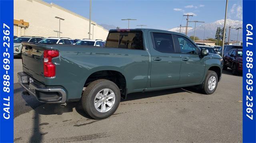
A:
[[[29,22],[24,32],[17,32],[14,25],[14,35],[57,37],[59,31],[58,16],[65,19],[60,21],[60,37],[83,39],[89,37],[89,20],[70,10],[66,10],[56,4],[48,4],[42,0],[14,0],[14,19]],[[96,24],[96,22],[92,23]],[[18,27],[18,31],[20,27]],[[21,29],[21,28],[20,28]],[[92,33],[92,25],[91,25]],[[94,26],[94,39],[106,39],[108,30],[100,25]],[[91,36],[92,39],[92,36]]]

